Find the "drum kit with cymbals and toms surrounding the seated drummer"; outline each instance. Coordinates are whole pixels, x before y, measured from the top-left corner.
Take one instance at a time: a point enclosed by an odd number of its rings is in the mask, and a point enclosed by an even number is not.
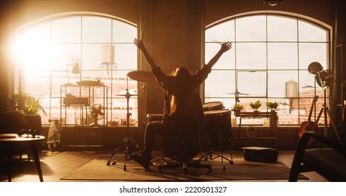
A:
[[[127,76],[133,80],[137,80],[143,83],[142,85],[142,94],[144,97],[144,104],[145,106],[145,85],[146,83],[154,83],[156,82],[154,76],[152,76],[151,71],[131,71],[127,74]],[[133,139],[131,139],[128,136],[128,128],[129,128],[129,118],[131,116],[131,113],[128,111],[128,102],[129,99],[133,96],[138,96],[138,94],[130,94],[128,92],[128,87],[126,88],[126,94],[118,94],[118,96],[126,97],[127,99],[127,116],[126,116],[126,138],[123,139],[121,144],[114,150],[111,157],[109,158],[107,165],[110,165],[112,162],[112,158],[115,154],[121,149],[125,148],[125,160],[130,160],[132,155],[132,149],[131,149],[131,142],[133,142]],[[237,95],[236,95],[237,97]],[[199,160],[214,160],[215,158],[222,158],[222,165],[223,169],[225,170],[225,164],[223,162],[223,159],[228,160],[231,164],[233,164],[232,160],[232,150],[231,150],[231,160],[225,158],[222,153],[223,146],[231,146],[232,144],[232,126],[231,126],[231,120],[230,120],[230,111],[227,109],[224,109],[224,106],[222,102],[209,102],[203,105],[204,109],[204,115],[206,117],[206,129],[201,137],[204,137],[204,139],[201,139],[201,141],[204,142],[204,146],[211,149],[208,153],[205,155],[202,154],[201,158]],[[145,109],[144,109],[144,113]],[[145,116],[148,117],[148,116]],[[145,119],[145,118],[144,118]],[[148,119],[149,120],[149,119]],[[159,118],[157,120],[161,120],[161,115],[159,115]],[[144,122],[146,125],[146,122]],[[218,130],[218,133],[215,132]],[[200,146],[203,146],[200,145]],[[218,146],[220,145],[220,146]],[[212,151],[213,148],[220,147],[221,154],[215,153]],[[203,147],[201,147],[203,148]],[[202,151],[202,149],[201,149]],[[216,155],[213,157],[213,155]],[[117,160],[114,160],[112,162],[112,165],[115,165]],[[126,162],[124,165],[124,171],[126,171]]]

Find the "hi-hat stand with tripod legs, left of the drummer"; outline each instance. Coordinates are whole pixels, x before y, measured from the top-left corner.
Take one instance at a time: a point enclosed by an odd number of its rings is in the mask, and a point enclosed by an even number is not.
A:
[[[127,80],[127,78],[126,78]],[[131,141],[134,143],[134,140],[131,139],[130,137],[128,137],[128,130],[129,130],[129,127],[130,127],[130,116],[132,115],[131,113],[129,113],[128,111],[128,102],[129,102],[129,99],[130,97],[132,96],[137,96],[137,94],[130,94],[128,92],[128,86],[126,87],[126,94],[119,94],[119,96],[124,96],[126,97],[127,99],[127,113],[126,113],[126,138],[123,139],[123,141],[121,141],[121,144],[118,146],[118,148],[116,148],[114,150],[114,152],[112,153],[112,155],[109,157],[109,160],[107,162],[107,165],[110,165],[111,161],[112,161],[112,158],[114,157],[115,154],[117,154],[117,152],[121,149],[121,148],[125,148],[125,164],[124,164],[124,171],[126,171],[126,163],[127,163],[127,160],[130,160],[131,159]],[[138,144],[135,145],[136,148],[138,148]],[[117,163],[117,160],[114,160],[112,162],[112,165],[116,165]]]

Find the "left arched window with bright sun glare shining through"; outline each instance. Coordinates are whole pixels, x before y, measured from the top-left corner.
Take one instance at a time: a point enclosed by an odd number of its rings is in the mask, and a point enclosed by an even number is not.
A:
[[[39,99],[47,112],[47,116],[41,115],[42,122],[48,124],[50,118],[60,119],[61,97],[86,97],[91,91],[86,87],[66,90],[63,85],[100,80],[107,86],[107,93],[95,87],[96,99],[90,104],[103,104],[105,96],[107,120],[125,119],[126,98],[117,95],[125,94],[126,88],[137,94],[137,82],[126,75],[138,66],[135,37],[137,27],[131,22],[85,13],[59,15],[20,29],[16,37],[15,93]],[[80,73],[72,73],[74,65],[79,66]],[[129,104],[131,118],[138,120],[137,98],[131,97]],[[88,117],[81,117],[76,107],[69,109],[65,118],[67,123],[79,124]]]

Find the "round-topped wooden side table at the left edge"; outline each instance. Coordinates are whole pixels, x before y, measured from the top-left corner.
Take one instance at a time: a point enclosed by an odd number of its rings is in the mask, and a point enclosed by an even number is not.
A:
[[[43,141],[45,139],[44,136],[36,136],[36,137],[19,137],[17,134],[0,134],[0,148],[5,149],[4,151],[8,155],[8,181],[11,182],[12,171],[11,171],[11,163],[12,163],[12,155],[15,152],[15,149],[19,146],[30,146],[32,148],[32,153],[34,155],[34,161],[36,165],[37,172],[39,174],[39,180],[41,182],[44,181],[42,176],[41,165],[39,162],[39,153],[36,147],[36,143],[39,141]]]

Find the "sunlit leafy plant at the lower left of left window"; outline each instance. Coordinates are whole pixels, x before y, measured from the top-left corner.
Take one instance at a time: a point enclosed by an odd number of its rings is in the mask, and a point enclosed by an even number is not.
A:
[[[44,107],[39,103],[39,99],[25,93],[14,94],[12,99],[8,100],[8,103],[13,106],[13,109],[22,110],[25,114],[39,114],[41,111],[44,115],[47,115]]]

